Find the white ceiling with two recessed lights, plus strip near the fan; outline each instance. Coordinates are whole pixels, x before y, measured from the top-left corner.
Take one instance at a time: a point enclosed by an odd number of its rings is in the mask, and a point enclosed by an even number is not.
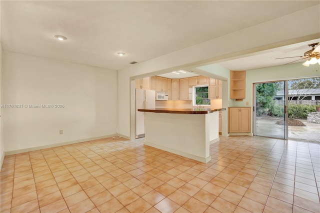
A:
[[[4,50],[118,70],[133,66],[129,64],[133,60],[146,61],[319,1],[1,0],[0,3]],[[55,34],[68,39],[58,41]],[[278,49],[276,54],[264,52],[267,57],[255,55],[253,60],[242,58],[220,64],[229,69],[235,63],[237,69],[242,69],[240,64],[254,68],[270,66],[279,55],[301,55],[308,49],[303,43]],[[119,51],[126,55],[118,56]]]

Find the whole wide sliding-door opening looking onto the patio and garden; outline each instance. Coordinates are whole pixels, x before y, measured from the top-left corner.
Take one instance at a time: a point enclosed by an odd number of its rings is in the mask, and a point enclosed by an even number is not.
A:
[[[253,134],[320,142],[320,77],[254,83]]]

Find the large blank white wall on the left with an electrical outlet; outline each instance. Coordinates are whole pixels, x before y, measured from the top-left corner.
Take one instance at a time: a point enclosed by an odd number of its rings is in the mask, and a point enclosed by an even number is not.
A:
[[[4,150],[20,150],[116,133],[117,71],[3,51]],[[59,130],[63,134],[59,134]]]

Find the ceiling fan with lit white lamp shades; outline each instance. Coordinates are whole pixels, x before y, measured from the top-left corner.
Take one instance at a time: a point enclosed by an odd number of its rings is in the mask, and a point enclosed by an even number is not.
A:
[[[309,66],[310,64],[315,64],[315,63],[320,64],[320,45],[318,45],[318,44],[319,44],[318,42],[308,44],[308,46],[312,47],[312,49],[304,52],[304,54],[301,56],[291,56],[291,57],[301,57],[301,58],[297,59],[297,60],[293,60],[293,61],[285,63],[285,64],[293,63],[295,61],[303,60],[303,59],[307,59],[307,58],[308,59],[304,63],[302,63],[302,65]],[[291,58],[291,57],[278,57],[275,59]]]

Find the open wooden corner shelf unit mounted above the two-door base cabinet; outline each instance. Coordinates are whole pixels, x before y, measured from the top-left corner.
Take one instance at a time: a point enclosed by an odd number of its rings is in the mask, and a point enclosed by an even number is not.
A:
[[[230,98],[245,98],[245,70],[230,70]]]

